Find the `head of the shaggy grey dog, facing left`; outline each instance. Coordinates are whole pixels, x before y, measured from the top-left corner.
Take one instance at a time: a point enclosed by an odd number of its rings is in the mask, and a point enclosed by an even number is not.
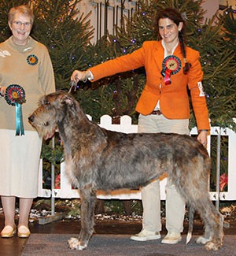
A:
[[[39,107],[28,117],[28,121],[41,138],[49,139],[68,109],[70,112],[76,111],[76,100],[65,91],[56,91],[40,98]]]

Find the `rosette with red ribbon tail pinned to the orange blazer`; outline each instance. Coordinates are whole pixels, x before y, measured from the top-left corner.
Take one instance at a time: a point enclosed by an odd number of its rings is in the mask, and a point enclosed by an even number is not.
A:
[[[170,55],[167,58],[164,58],[162,62],[161,75],[164,77],[164,83],[171,83],[171,75],[175,75],[181,69],[181,61],[175,55]]]

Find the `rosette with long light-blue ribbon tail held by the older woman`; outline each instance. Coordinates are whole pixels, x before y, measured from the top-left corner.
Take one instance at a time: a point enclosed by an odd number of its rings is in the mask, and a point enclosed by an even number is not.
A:
[[[16,135],[24,135],[24,124],[21,105],[25,102],[25,91],[18,84],[11,84],[6,88],[6,102],[16,108]]]

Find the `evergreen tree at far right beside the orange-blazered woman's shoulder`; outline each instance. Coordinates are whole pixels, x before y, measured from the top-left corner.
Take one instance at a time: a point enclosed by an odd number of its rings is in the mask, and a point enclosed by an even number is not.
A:
[[[201,53],[211,124],[235,131],[236,66],[234,51],[225,43],[223,20],[216,15],[208,20],[208,24],[201,26],[198,39],[195,47]]]

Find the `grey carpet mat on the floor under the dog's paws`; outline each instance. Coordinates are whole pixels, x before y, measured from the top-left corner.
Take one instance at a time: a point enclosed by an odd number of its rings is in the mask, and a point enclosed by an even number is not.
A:
[[[205,256],[205,255],[236,255],[236,236],[225,236],[223,247],[218,251],[207,251],[194,239],[185,244],[186,236],[182,242],[175,245],[161,244],[159,240],[146,242],[132,241],[127,235],[94,235],[90,239],[86,250],[71,250],[67,240],[76,235],[64,234],[31,234],[24,247],[23,256],[26,255],[142,255],[142,256]],[[194,237],[196,238],[196,237]]]

